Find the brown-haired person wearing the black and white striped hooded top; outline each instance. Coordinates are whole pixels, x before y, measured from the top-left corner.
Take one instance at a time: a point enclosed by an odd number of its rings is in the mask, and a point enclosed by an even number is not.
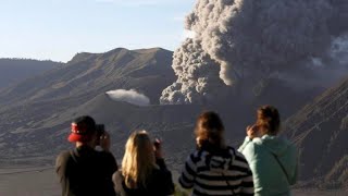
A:
[[[224,125],[215,112],[196,124],[197,149],[187,158],[179,184],[192,195],[253,195],[252,174],[244,156],[224,142]]]

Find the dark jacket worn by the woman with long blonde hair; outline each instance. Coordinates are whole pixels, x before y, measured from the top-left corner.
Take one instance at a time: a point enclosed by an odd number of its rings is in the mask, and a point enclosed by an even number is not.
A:
[[[160,169],[154,169],[149,176],[146,187],[128,188],[125,185],[122,171],[114,175],[114,184],[117,196],[165,196],[174,193],[172,173],[166,169],[164,160],[158,159],[157,164]]]

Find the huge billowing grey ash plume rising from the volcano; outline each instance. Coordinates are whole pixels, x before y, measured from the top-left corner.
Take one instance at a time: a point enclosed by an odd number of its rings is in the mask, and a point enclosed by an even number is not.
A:
[[[199,0],[186,17],[195,37],[175,51],[178,78],[161,103],[209,101],[250,75],[294,71],[328,56],[332,41],[347,33],[347,0]]]

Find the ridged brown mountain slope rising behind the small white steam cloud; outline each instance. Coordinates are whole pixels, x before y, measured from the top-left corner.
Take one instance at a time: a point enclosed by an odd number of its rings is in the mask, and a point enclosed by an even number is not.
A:
[[[157,102],[157,98],[151,95],[160,95],[164,85],[174,81],[172,54],[164,49],[142,50],[140,53],[115,49],[100,54],[77,54],[75,60],[73,58],[60,69],[26,79],[2,91],[0,105],[62,98],[67,91],[80,95],[98,90],[97,95],[117,88],[135,88],[140,93],[150,90],[149,98]],[[162,82],[157,83],[156,79]]]

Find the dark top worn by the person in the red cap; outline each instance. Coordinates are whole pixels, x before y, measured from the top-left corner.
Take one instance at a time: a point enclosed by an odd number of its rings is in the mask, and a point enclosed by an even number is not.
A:
[[[61,152],[55,171],[62,196],[115,196],[112,174],[117,163],[111,152],[83,146]]]

